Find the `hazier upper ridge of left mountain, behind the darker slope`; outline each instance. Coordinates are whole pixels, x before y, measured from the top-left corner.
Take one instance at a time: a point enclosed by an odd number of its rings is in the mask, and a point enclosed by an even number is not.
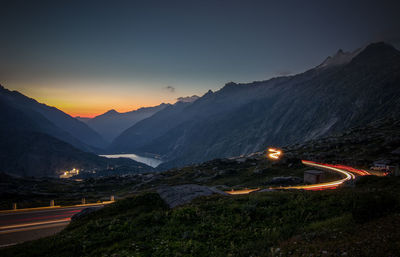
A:
[[[52,135],[82,150],[94,151],[107,146],[105,140],[83,122],[55,107],[38,103],[36,100],[0,86],[0,102],[20,110],[36,121],[41,132]]]

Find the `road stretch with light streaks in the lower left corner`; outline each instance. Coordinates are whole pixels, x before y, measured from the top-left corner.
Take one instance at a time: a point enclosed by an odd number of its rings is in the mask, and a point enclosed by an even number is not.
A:
[[[70,207],[44,207],[0,212],[0,247],[53,235],[61,231],[71,217],[88,207],[102,204]]]

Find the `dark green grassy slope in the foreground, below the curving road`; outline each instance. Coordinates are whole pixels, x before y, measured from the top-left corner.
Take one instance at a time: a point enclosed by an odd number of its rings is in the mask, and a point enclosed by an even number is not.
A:
[[[362,229],[371,234],[380,231],[381,220],[398,225],[399,185],[397,178],[364,178],[355,188],[211,196],[173,210],[166,208],[157,194],[146,193],[73,222],[56,236],[2,249],[0,254],[271,256],[283,252],[282,256],[288,256],[294,254],[293,244],[288,242],[297,238],[296,255],[318,255],[322,254],[321,247],[329,246],[330,250],[344,241],[340,236],[336,241],[330,239],[339,235],[339,230],[348,233],[346,240],[356,240],[358,237],[353,235],[359,229],[360,233]],[[400,252],[400,246],[391,243],[398,232],[386,232],[382,231],[383,242],[387,243],[379,244],[375,256]],[[328,236],[324,237],[324,233]],[[307,241],[310,236],[314,239]],[[351,253],[352,244],[340,246],[341,251]],[[281,249],[274,254],[277,247]]]

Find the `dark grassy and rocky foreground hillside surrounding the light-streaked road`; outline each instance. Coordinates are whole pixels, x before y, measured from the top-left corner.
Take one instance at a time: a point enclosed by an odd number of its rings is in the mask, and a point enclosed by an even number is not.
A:
[[[85,196],[104,198],[111,192],[124,199],[74,219],[55,236],[2,248],[0,254],[13,257],[397,256],[399,177],[359,177],[352,184],[326,191],[214,194],[174,208],[160,196],[160,188],[199,184],[223,190],[267,189],[276,176],[301,176],[304,169],[309,169],[299,162],[305,156],[342,164],[349,164],[352,159],[341,158],[354,156],[358,165],[385,158],[399,165],[399,124],[399,120],[382,119],[293,145],[285,149],[283,159],[278,162],[268,160],[260,152],[163,173],[62,184],[59,180],[24,179],[18,183],[12,180],[14,183],[2,186],[8,202],[2,201],[1,206],[10,206],[15,199],[36,200],[39,193],[41,199],[44,193],[51,193],[48,199],[59,196],[59,202],[76,202]],[[1,178],[7,182],[7,178]],[[33,189],[37,196],[26,194]]]

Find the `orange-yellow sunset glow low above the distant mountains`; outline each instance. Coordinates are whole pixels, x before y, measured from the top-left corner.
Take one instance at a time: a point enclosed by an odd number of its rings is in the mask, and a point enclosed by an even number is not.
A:
[[[125,87],[120,90],[110,87],[108,83],[71,82],[65,86],[58,85],[58,87],[51,84],[14,86],[10,90],[17,90],[39,103],[56,107],[72,117],[85,118],[93,118],[111,109],[123,113],[142,107],[157,106],[161,103],[175,103],[178,96],[163,91],[162,87],[158,86],[134,87],[131,85],[128,87],[125,85]],[[190,95],[187,92],[180,93],[183,96]]]

